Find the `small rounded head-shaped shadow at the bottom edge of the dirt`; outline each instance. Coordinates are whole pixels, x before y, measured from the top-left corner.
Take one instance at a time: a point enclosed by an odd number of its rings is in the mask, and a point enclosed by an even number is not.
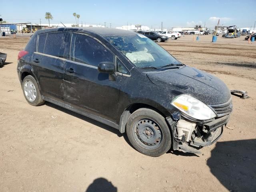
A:
[[[117,188],[105,178],[97,178],[85,192],[117,192]]]

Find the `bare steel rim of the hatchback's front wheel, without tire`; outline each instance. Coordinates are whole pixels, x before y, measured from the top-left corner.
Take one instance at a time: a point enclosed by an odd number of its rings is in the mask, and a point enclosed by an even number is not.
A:
[[[162,144],[162,130],[154,120],[142,118],[134,123],[133,129],[134,139],[143,148],[154,150]]]

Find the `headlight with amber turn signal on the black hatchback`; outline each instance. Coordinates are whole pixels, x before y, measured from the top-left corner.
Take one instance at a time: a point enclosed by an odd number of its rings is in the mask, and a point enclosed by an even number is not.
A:
[[[188,116],[198,120],[208,120],[216,117],[216,114],[209,106],[186,94],[178,96],[171,104]]]

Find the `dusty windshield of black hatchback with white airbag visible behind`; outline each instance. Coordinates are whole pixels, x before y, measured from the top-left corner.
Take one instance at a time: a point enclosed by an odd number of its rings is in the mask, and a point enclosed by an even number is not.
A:
[[[182,65],[161,46],[142,34],[105,38],[138,68]]]

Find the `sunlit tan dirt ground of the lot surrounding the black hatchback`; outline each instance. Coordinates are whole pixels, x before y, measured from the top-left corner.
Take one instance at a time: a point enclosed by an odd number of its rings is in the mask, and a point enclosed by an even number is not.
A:
[[[256,42],[193,35],[160,43],[178,60],[230,88],[234,112],[222,138],[202,154],[158,158],[134,150],[118,130],[54,104],[29,105],[16,72],[28,37],[0,38],[0,191],[256,191]]]

